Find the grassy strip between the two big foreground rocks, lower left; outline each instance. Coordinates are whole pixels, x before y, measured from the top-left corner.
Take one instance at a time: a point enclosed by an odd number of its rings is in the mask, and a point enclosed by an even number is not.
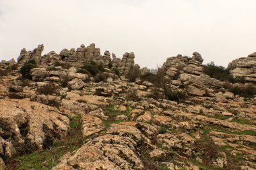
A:
[[[55,140],[53,146],[49,150],[36,151],[27,155],[18,155],[14,157],[7,169],[17,169],[17,170],[48,170],[52,169],[52,166],[59,163],[59,159],[67,152],[75,151],[77,148],[84,144],[84,138],[82,131],[80,130],[81,124],[79,123],[81,116],[70,118],[69,134],[61,139]],[[72,139],[72,140],[70,140]],[[53,158],[54,163],[53,163]]]

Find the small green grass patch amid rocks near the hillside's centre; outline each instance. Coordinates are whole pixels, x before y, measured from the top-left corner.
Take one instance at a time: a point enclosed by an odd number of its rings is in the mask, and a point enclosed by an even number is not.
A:
[[[105,126],[105,129],[110,126],[110,124],[119,124],[120,122],[123,122],[123,120],[115,120],[115,117],[123,114],[125,116],[129,116],[129,113],[131,112],[130,108],[127,107],[125,112],[121,112],[120,110],[117,110],[114,108],[113,105],[106,106],[105,115],[108,116],[108,120],[103,120],[103,124]]]

